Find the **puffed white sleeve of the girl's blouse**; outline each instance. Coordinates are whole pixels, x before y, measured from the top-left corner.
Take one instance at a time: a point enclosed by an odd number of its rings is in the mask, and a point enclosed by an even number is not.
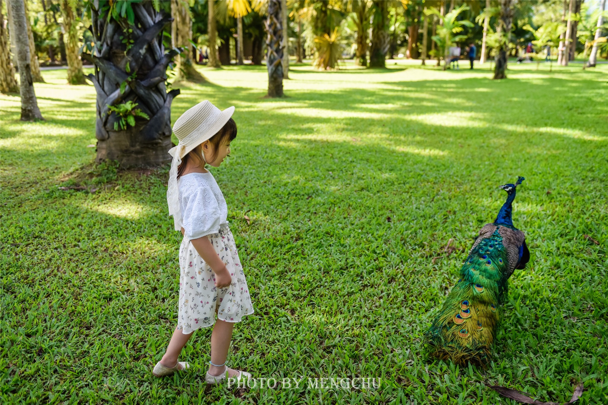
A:
[[[185,237],[192,240],[218,233],[220,222],[218,202],[208,186],[192,189],[182,196]]]

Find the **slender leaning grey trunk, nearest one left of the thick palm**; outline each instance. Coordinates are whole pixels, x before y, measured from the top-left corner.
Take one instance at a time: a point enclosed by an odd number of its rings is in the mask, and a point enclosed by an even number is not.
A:
[[[34,83],[30,63],[30,46],[28,43],[26,7],[23,1],[13,0],[7,3],[10,7],[11,27],[15,30],[17,63],[19,65],[19,93],[21,94],[21,121],[44,120],[34,93]]]

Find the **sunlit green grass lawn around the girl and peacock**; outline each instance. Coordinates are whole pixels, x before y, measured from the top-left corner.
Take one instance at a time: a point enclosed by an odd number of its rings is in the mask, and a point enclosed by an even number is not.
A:
[[[35,86],[44,122],[0,97],[0,403],[507,404],[485,383],[567,401],[578,382],[579,403],[606,403],[608,66],[510,64],[503,81],[347,67],[292,66],[279,100],[263,98],[264,67],[201,69],[210,83],[176,84],[171,118],[205,99],[236,107],[213,175],[256,312],[230,366],[379,389],[207,387],[210,329],[182,354],[193,372],[154,378],[179,291],[168,168],[92,168],[94,88],[55,70]],[[88,171],[96,192],[58,189]],[[510,279],[494,360],[427,358],[423,333],[517,175],[531,261]]]

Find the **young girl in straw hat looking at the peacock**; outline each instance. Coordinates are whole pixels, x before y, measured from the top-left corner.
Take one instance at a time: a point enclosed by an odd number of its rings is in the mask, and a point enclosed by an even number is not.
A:
[[[167,189],[169,214],[175,230],[184,235],[179,248],[178,326],[161,361],[154,366],[157,377],[190,367],[178,361],[179,353],[201,327],[212,326],[211,361],[206,381],[215,384],[226,376],[251,378],[247,372],[229,369],[226,356],[232,327],[244,315],[254,313],[245,274],[226,219],[226,200],[205,165],[219,167],[237,137],[237,124],[230,118],[234,107],[224,111],[202,101],[178,118],[173,132],[179,144],[173,156]]]

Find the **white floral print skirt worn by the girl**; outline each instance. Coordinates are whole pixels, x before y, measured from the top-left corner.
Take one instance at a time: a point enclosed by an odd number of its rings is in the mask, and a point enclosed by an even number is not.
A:
[[[210,234],[209,240],[232,275],[232,284],[216,288],[215,273],[184,237],[179,248],[179,311],[178,329],[187,334],[198,328],[212,326],[218,319],[240,322],[244,315],[254,313],[245,273],[238,258],[237,247],[228,226]]]

